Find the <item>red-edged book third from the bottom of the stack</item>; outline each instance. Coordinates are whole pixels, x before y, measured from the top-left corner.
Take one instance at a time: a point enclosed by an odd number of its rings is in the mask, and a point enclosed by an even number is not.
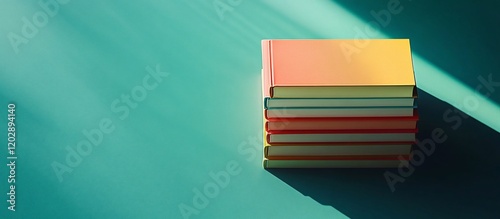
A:
[[[266,140],[274,143],[332,142],[407,142],[415,141],[417,129],[393,130],[311,130],[266,132]]]

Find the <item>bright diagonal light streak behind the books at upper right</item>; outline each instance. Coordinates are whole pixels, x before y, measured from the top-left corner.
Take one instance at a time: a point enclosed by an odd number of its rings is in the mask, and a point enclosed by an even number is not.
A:
[[[366,36],[369,38],[391,38],[382,33],[383,24],[378,23],[381,28],[374,29],[372,27],[376,26],[369,26],[369,24],[376,24],[376,20],[373,21],[375,23],[367,23],[334,2],[326,0],[307,2],[277,0],[266,1],[266,4],[325,38],[363,38]],[[286,7],[284,7],[285,5]],[[404,9],[403,5],[401,7]],[[404,10],[400,13],[404,13]],[[397,14],[393,14],[391,19],[397,19],[397,16]],[[390,22],[391,19],[388,21]],[[390,23],[386,25],[390,25]],[[500,115],[500,107],[496,103],[450,76],[450,73],[420,57],[416,52],[413,52],[413,63],[420,89],[500,132],[500,120],[491,119],[494,115]]]

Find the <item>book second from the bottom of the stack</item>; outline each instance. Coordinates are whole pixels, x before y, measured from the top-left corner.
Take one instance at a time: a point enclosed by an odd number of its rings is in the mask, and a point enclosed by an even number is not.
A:
[[[411,144],[264,144],[264,157],[409,155]]]

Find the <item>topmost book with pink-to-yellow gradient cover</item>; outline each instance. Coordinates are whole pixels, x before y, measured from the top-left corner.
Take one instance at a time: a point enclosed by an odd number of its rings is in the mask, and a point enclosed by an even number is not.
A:
[[[262,40],[264,96],[414,97],[408,39]]]

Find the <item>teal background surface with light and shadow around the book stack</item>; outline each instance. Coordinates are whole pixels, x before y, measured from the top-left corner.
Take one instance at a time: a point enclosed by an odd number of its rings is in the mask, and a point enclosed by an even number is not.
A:
[[[181,209],[189,218],[497,218],[499,7],[4,0],[0,218],[183,218]],[[418,138],[439,129],[446,141],[394,191],[384,173],[398,170],[264,170],[260,40],[365,37],[411,40]],[[5,201],[8,103],[17,106],[15,212]],[[101,121],[108,133],[68,163]],[[67,172],[59,178],[54,165]],[[226,180],[214,187],[214,174]],[[199,198],[205,188],[211,197]]]

